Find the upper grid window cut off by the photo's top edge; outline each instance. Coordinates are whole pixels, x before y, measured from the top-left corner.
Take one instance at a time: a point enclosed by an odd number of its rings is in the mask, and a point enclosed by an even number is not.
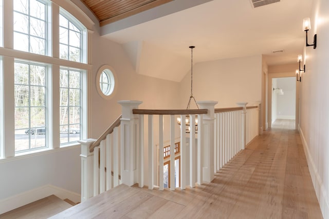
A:
[[[46,54],[47,4],[42,0],[13,0],[14,49]]]

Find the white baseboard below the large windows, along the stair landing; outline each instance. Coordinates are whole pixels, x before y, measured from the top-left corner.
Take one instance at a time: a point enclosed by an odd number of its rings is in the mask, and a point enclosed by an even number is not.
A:
[[[11,211],[13,209],[19,208],[21,206],[27,205],[31,202],[40,200],[41,198],[47,197],[49,195],[56,195],[62,200],[68,198],[69,200],[77,203],[81,201],[81,195],[62,189],[53,185],[45,185],[36,189],[32,189],[3,200],[0,200],[0,214]]]

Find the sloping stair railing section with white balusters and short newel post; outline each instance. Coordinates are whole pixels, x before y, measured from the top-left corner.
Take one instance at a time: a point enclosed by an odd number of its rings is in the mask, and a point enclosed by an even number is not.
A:
[[[97,139],[81,144],[81,202],[121,184],[120,182],[120,115]]]

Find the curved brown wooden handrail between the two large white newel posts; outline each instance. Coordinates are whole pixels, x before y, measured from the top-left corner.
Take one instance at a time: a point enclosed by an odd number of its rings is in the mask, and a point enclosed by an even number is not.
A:
[[[143,115],[188,115],[188,114],[207,114],[207,109],[188,109],[188,110],[148,110],[148,109],[133,109],[134,114]]]

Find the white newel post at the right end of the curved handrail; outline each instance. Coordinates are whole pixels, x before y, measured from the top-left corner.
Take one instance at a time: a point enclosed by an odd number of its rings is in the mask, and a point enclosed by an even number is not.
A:
[[[215,129],[215,101],[199,101],[200,109],[208,109],[203,115],[201,148],[203,150],[203,181],[211,182],[214,179],[214,129]]]

